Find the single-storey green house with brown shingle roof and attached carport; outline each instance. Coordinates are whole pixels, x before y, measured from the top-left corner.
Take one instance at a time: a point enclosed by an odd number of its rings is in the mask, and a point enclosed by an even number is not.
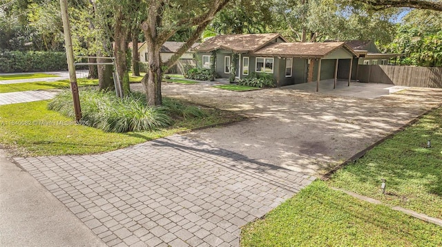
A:
[[[215,70],[229,78],[232,54],[238,54],[237,78],[252,72],[273,74],[277,86],[313,80],[349,79],[357,54],[343,42],[288,43],[280,34],[230,34],[207,39],[195,48],[199,67],[210,68],[216,51]]]

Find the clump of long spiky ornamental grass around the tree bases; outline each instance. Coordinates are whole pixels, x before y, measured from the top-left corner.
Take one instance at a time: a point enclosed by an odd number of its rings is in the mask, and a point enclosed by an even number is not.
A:
[[[148,131],[168,127],[175,118],[202,118],[206,116],[198,107],[186,106],[176,100],[165,99],[164,106],[147,106],[146,96],[134,92],[125,98],[117,98],[114,92],[84,89],[79,92],[81,124],[106,132]],[[48,109],[75,117],[70,90],[55,96]]]

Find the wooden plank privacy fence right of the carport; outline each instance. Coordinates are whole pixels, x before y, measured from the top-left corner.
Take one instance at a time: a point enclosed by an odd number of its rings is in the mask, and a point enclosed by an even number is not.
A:
[[[361,83],[442,88],[442,67],[358,65],[356,78]]]

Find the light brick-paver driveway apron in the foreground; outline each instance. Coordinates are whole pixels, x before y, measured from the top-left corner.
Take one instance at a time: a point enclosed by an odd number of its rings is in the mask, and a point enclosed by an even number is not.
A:
[[[241,226],[314,180],[179,135],[15,161],[108,246],[239,246]]]

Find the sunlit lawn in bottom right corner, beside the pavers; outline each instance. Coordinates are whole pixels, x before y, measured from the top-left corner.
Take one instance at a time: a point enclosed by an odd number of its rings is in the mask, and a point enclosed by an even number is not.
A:
[[[441,246],[440,226],[316,181],[242,228],[241,246]]]

